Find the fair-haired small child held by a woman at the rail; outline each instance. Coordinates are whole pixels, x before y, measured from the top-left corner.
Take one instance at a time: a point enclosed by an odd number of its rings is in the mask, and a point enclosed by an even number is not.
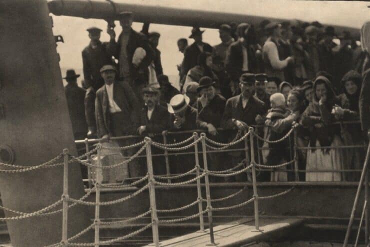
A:
[[[282,93],[276,92],[270,96],[271,109],[268,110],[265,121],[265,139],[278,140],[282,138],[291,128],[295,121],[295,114],[290,114],[286,108],[285,97]],[[267,165],[276,165],[289,161],[289,139],[286,138],[278,143],[268,143],[269,150],[265,156]],[[287,169],[282,167],[280,169]],[[272,171],[271,181],[287,181],[286,171]]]

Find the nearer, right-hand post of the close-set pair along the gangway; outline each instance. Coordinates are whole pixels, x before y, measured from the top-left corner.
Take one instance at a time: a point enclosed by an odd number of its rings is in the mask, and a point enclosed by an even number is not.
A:
[[[210,244],[207,245],[216,245],[214,242],[213,234],[213,218],[212,218],[212,205],[210,203],[210,189],[209,189],[209,178],[208,178],[208,164],[207,164],[207,149],[205,146],[205,133],[200,134],[201,137],[201,150],[203,153],[203,165],[204,165],[204,181],[205,181],[205,194],[207,199],[207,209],[208,209],[208,225],[209,225],[209,237]]]

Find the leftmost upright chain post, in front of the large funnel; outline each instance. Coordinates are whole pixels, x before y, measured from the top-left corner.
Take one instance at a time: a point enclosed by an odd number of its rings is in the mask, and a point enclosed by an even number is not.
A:
[[[63,246],[68,246],[68,149],[63,149],[64,166],[63,166],[63,218],[61,230],[61,243]]]

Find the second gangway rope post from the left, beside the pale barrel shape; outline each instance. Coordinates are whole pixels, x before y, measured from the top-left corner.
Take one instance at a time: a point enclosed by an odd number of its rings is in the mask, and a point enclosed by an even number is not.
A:
[[[97,144],[97,165],[96,173],[96,182],[95,182],[95,236],[94,236],[94,247],[99,247],[99,227],[100,227],[100,184],[102,182],[102,168],[101,168],[101,143]]]

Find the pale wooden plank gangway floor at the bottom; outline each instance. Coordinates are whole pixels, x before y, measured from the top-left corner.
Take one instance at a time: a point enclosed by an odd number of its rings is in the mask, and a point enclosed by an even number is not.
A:
[[[260,229],[255,231],[253,220],[238,220],[213,227],[214,240],[217,247],[239,246],[257,240],[264,240],[271,234],[286,234],[286,230],[299,225],[303,219],[288,218],[260,218]],[[192,232],[183,236],[171,238],[160,242],[161,247],[195,247],[209,244],[209,231]],[[147,245],[150,246],[150,245]],[[152,245],[151,245],[152,246]]]

